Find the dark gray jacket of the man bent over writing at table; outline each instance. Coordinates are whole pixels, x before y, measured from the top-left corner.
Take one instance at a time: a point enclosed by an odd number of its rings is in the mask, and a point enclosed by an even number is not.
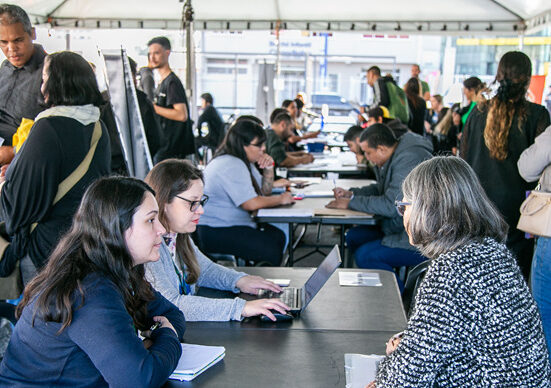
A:
[[[382,167],[375,167],[377,183],[350,190],[354,198],[348,208],[381,217],[382,244],[390,248],[414,250],[409,244],[402,217],[396,212],[394,201],[402,200],[402,182],[419,163],[432,157],[429,140],[412,132],[398,140],[398,146]]]

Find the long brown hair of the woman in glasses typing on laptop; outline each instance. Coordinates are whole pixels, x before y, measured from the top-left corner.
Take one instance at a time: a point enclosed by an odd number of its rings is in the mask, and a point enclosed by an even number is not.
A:
[[[163,160],[145,177],[146,183],[155,190],[155,198],[159,204],[159,221],[166,230],[170,230],[170,225],[165,205],[171,203],[176,195],[188,190],[194,180],[203,181],[203,173],[189,161],[182,159]],[[176,237],[176,253],[180,268],[187,269],[186,282],[196,283],[200,267],[188,234],[178,234]]]

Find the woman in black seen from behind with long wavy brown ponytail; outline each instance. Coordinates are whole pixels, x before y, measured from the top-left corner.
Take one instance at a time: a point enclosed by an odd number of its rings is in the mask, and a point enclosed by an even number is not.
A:
[[[507,246],[526,277],[533,243],[516,226],[526,191],[534,185],[521,178],[517,161],[550,123],[545,107],[526,100],[531,75],[532,63],[522,52],[510,51],[501,58],[494,81],[497,93],[490,99],[481,95],[463,130],[460,153],[505,217]]]

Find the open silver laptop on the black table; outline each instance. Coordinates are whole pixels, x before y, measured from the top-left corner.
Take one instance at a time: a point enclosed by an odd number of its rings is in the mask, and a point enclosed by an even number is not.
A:
[[[329,280],[333,272],[341,265],[341,254],[337,245],[323,259],[319,267],[312,276],[304,283],[301,288],[285,287],[283,292],[261,290],[261,298],[279,298],[283,303],[291,308],[292,313],[303,311],[306,306],[314,299],[314,296],[321,290],[323,285]]]

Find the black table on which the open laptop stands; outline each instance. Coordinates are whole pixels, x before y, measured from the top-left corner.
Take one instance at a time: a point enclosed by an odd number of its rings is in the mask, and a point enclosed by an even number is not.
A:
[[[245,267],[239,268],[251,275],[264,278],[291,280],[291,287],[302,287],[314,272],[313,268]],[[380,287],[344,287],[339,285],[338,272],[377,272]],[[199,295],[208,297],[235,297],[235,294],[201,289]],[[254,299],[240,294],[244,299]],[[249,318],[243,322],[188,322],[190,328],[240,328],[255,330],[341,330],[341,331],[393,331],[404,329],[406,317],[395,276],[389,271],[337,269],[325,286],[314,297],[298,319],[290,322],[263,322]]]

